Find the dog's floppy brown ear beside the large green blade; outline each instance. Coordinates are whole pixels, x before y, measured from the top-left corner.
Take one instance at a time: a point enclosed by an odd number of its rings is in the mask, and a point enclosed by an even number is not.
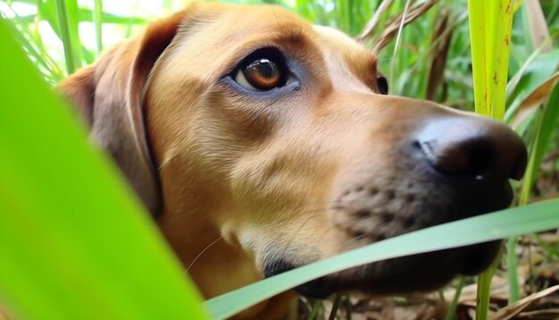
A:
[[[161,209],[161,195],[146,139],[145,86],[185,14],[152,23],[143,37],[114,46],[97,63],[72,74],[59,86],[88,122],[90,136],[110,152],[152,214]]]

